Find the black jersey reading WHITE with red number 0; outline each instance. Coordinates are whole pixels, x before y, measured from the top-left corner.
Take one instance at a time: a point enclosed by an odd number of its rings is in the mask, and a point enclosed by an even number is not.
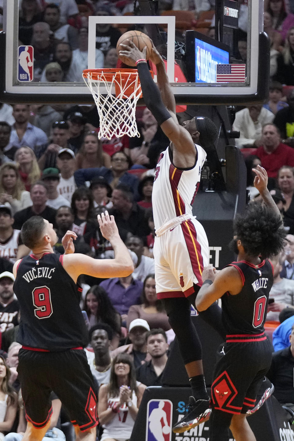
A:
[[[243,288],[237,295],[222,296],[222,319],[228,334],[259,334],[264,331],[268,296],[273,284],[273,267],[268,260],[255,266],[240,261],[238,269]]]

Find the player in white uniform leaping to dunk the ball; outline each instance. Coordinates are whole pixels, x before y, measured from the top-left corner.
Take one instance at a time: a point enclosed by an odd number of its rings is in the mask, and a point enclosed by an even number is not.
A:
[[[184,127],[179,125],[164,61],[154,45],[150,60],[156,64],[158,87],[150,75],[145,49],[140,52],[134,43],[121,47],[124,50],[119,56],[126,57],[130,65],[136,64],[145,104],[171,141],[156,167],[152,205],[156,292],[178,338],[193,393],[187,414],[173,427],[178,433],[206,421],[210,414],[201,343],[190,317],[190,305],[202,285],[203,267],[209,262],[208,240],[192,215],[192,204],[206,158],[202,147],[213,145],[217,129],[209,118],[199,116],[186,121]],[[217,304],[210,306],[203,318],[225,336]]]

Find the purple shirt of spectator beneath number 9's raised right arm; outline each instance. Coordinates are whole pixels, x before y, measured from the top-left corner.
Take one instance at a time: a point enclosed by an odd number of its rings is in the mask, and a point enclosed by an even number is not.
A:
[[[140,297],[143,284],[141,280],[135,280],[132,274],[127,277],[114,277],[103,280],[100,286],[105,289],[112,305],[123,320],[127,318],[127,313],[131,305],[141,303]]]

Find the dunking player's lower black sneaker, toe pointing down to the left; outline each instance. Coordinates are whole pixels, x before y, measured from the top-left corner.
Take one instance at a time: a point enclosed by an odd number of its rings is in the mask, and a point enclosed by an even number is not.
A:
[[[194,396],[190,396],[189,404],[186,407],[186,415],[183,419],[174,424],[172,431],[175,434],[181,434],[186,430],[193,429],[201,422],[205,422],[209,419],[211,409],[209,408],[210,400],[195,400]]]

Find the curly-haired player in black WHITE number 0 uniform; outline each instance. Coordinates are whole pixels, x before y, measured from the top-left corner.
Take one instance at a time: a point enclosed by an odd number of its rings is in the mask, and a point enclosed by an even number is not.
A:
[[[267,172],[259,165],[253,171],[257,175],[254,185],[264,204],[249,205],[236,219],[233,244],[237,262],[217,274],[212,266],[206,267],[196,298],[200,311],[222,299],[227,330],[227,340],[217,352],[211,388],[210,441],[228,441],[229,428],[236,441],[256,441],[246,415],[256,406],[257,392],[272,359],[264,322],[273,266],[265,259],[283,249],[286,232],[267,188]]]

